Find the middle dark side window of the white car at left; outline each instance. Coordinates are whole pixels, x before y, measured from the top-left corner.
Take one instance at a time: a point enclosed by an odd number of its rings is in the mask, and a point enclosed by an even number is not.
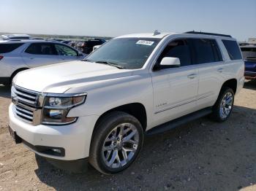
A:
[[[25,51],[33,55],[58,55],[53,44],[50,43],[33,43]]]

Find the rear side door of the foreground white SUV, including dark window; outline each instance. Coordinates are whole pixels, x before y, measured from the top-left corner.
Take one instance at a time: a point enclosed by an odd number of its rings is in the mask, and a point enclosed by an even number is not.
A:
[[[197,109],[214,105],[222,86],[224,61],[215,39],[190,39],[193,44],[194,64],[198,69],[199,86]]]

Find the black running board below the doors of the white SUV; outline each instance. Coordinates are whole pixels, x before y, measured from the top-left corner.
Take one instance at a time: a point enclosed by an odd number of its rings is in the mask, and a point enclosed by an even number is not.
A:
[[[208,114],[211,114],[211,112],[212,112],[211,107],[208,107],[206,109],[201,109],[197,112],[187,114],[183,117],[179,117],[176,120],[165,122],[162,125],[158,125],[157,127],[151,128],[150,130],[146,131],[146,136],[152,136],[155,134],[164,133],[167,130],[171,130],[187,122],[190,122],[192,120],[197,120],[200,117],[204,117]]]

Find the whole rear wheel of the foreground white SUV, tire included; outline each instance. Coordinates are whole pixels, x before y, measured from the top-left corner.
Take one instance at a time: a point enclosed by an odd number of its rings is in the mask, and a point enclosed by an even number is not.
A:
[[[234,104],[234,92],[230,87],[223,87],[214,104],[212,118],[217,122],[223,122],[230,117]]]

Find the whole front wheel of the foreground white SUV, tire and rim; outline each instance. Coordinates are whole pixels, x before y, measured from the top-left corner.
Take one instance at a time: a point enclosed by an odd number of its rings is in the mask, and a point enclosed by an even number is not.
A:
[[[105,115],[95,127],[89,162],[102,174],[116,174],[128,168],[143,144],[140,122],[125,112]]]

